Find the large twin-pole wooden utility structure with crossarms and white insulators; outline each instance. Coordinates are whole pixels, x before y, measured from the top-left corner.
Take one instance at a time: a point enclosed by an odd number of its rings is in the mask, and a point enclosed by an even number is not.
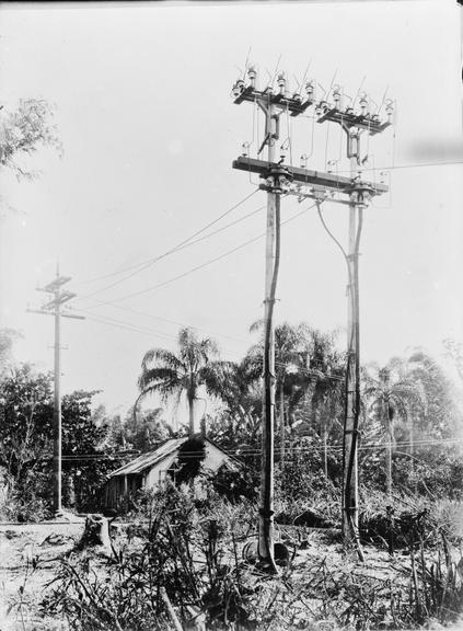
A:
[[[259,507],[258,553],[275,570],[273,558],[273,475],[274,475],[274,422],[275,422],[275,358],[274,358],[274,322],[275,288],[279,261],[279,208],[280,196],[297,195],[299,200],[313,198],[319,207],[329,194],[329,202],[349,206],[348,253],[348,366],[346,371],[346,414],[344,432],[344,482],[343,482],[343,531],[345,540],[354,540],[360,558],[358,542],[358,482],[357,449],[358,423],[360,411],[360,343],[359,343],[359,286],[358,256],[362,227],[363,209],[374,195],[387,192],[387,186],[377,182],[364,182],[361,179],[360,134],[368,130],[373,136],[391,125],[392,102],[387,102],[387,121],[381,122],[379,113],[370,114],[366,97],[360,100],[360,112],[354,106],[342,108],[342,93],[338,87],[333,90],[334,103],[315,101],[315,82],[308,81],[303,100],[297,91],[289,95],[283,73],[278,76],[279,92],[273,87],[256,89],[254,68],[247,71],[248,83],[239,79],[233,85],[234,103],[248,101],[258,105],[265,115],[265,137],[257,151],[259,156],[268,146],[267,160],[251,158],[247,152],[233,161],[233,168],[248,174],[257,173],[264,181],[259,188],[267,192],[267,242],[266,242],[266,292],[265,292],[265,346],[264,346],[264,405],[263,405],[263,443],[262,443],[262,479]],[[301,167],[285,164],[286,151],[280,146],[280,159],[276,161],[275,144],[279,139],[279,116],[286,112],[289,116],[302,114],[311,105],[315,106],[317,123],[329,121],[337,123],[347,134],[347,154],[350,159],[350,176],[345,177],[332,172],[306,169],[306,157],[301,157]],[[290,142],[290,138],[288,138]],[[245,145],[243,145],[244,147]],[[247,145],[248,146],[248,145]],[[338,243],[339,245],[339,243]]]

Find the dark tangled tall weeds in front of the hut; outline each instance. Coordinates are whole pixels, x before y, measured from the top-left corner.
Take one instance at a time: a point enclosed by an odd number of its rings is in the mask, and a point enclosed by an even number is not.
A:
[[[100,570],[88,555],[62,561],[44,608],[85,631],[166,630],[171,607],[183,626],[204,618],[208,629],[252,629],[253,590],[239,561],[236,510],[219,502],[201,515],[193,494],[172,484],[152,500],[140,513],[149,519],[140,544],[120,547]]]

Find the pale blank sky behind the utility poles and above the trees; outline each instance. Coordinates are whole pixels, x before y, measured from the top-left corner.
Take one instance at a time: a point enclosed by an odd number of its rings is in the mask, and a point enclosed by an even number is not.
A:
[[[224,358],[244,354],[263,316],[264,240],[157,286],[261,234],[265,193],[201,236],[255,210],[235,226],[129,274],[256,190],[256,179],[231,168],[243,141],[252,152],[262,141],[253,106],[230,96],[250,47],[264,84],[280,58],[293,85],[310,64],[306,76],[325,90],[334,82],[355,95],[363,81],[377,103],[386,89],[397,101],[395,127],[366,147],[391,194],[366,213],[363,362],[462,341],[462,164],[445,163],[462,159],[460,11],[453,0],[3,4],[1,103],[53,103],[65,148],[62,159],[34,156],[40,176],[32,183],[0,174],[16,210],[1,226],[1,325],[23,332],[16,357],[53,368],[53,320],[25,309],[43,301],[35,288],[53,279],[58,257],[79,295],[72,307],[88,317],[62,323],[65,391],[102,390],[100,401],[125,412],[143,353],[174,348],[184,324],[216,337]],[[338,128],[311,117],[290,129],[282,117],[281,127],[294,163],[312,153],[310,168],[348,169]],[[380,169],[370,175],[379,180]],[[310,204],[281,206],[285,220]],[[346,207],[324,213],[345,242]],[[277,320],[344,326],[345,263],[313,208],[283,227],[281,256]]]

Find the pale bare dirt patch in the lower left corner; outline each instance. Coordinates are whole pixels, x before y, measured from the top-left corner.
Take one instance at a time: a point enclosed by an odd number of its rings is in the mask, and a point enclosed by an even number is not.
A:
[[[37,618],[36,609],[57,558],[73,547],[83,524],[78,517],[72,523],[0,524],[0,631],[66,629],[60,621]]]

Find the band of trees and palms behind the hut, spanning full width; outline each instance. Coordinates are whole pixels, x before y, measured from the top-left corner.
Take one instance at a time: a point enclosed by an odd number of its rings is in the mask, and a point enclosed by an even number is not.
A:
[[[106,474],[127,461],[130,451],[147,451],[169,437],[198,433],[195,406],[205,397],[216,402],[217,411],[202,415],[202,432],[241,456],[250,470],[258,470],[263,344],[261,324],[251,329],[257,341],[240,362],[221,360],[217,343],[192,329],[180,331],[176,352],[148,351],[138,380],[140,395],[125,418],[108,415],[102,405],[94,410],[95,392],[77,390],[63,397],[63,504],[93,509],[101,502]],[[12,330],[0,331],[0,471],[10,498],[14,496],[27,513],[27,503],[32,506],[38,500],[45,507],[50,496],[53,376],[14,363],[15,336]],[[304,475],[321,473],[338,485],[346,362],[336,333],[306,323],[281,323],[275,344],[281,490],[303,493]],[[447,341],[445,348],[458,370],[461,345]],[[462,429],[461,389],[442,367],[416,349],[385,366],[363,366],[361,378],[360,481],[368,480],[389,495],[395,487],[462,494],[462,459],[458,445],[450,443]],[[184,399],[188,429],[174,432],[162,406],[140,410],[139,402],[150,393],[159,394],[161,402]],[[127,452],[127,459],[120,452]]]

